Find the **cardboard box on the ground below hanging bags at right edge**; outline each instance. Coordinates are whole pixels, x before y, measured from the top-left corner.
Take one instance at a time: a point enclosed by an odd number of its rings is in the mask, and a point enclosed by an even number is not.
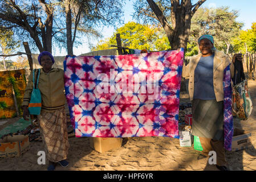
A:
[[[251,133],[234,136],[232,138],[232,151],[243,150],[251,147]]]

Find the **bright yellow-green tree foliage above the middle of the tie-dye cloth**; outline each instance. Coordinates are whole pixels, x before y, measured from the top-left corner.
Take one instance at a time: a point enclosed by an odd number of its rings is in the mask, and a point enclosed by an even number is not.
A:
[[[111,38],[97,43],[92,51],[112,48],[111,45],[116,45],[116,34],[120,34],[123,47],[151,51],[163,51],[170,48],[169,41],[160,28],[128,22],[123,27],[117,28]]]

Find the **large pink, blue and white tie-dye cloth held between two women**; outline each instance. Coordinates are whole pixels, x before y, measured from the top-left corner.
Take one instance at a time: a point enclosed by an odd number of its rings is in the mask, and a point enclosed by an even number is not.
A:
[[[178,138],[183,57],[183,51],[67,56],[64,82],[76,137]]]

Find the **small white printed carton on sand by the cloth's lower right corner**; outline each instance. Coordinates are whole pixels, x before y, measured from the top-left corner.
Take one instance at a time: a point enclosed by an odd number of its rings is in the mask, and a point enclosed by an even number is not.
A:
[[[193,143],[191,126],[180,125],[178,134],[180,135],[180,146],[181,147],[191,147]],[[190,131],[185,131],[185,127],[189,128]]]

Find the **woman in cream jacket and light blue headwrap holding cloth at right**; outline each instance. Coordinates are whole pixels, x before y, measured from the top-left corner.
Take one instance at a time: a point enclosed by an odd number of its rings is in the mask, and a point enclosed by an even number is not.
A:
[[[192,134],[200,138],[202,155],[216,151],[216,167],[227,171],[224,149],[224,69],[230,65],[231,77],[234,75],[234,60],[242,57],[234,55],[233,61],[214,48],[211,35],[198,39],[201,53],[193,56],[182,69],[182,77],[189,77],[189,96],[192,101]]]

